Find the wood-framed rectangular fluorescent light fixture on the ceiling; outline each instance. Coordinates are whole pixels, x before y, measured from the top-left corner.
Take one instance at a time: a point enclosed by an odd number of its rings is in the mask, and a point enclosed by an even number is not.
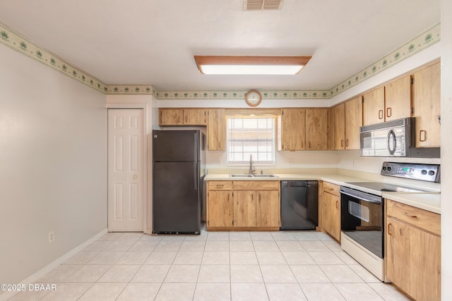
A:
[[[203,74],[295,75],[311,56],[195,56]]]

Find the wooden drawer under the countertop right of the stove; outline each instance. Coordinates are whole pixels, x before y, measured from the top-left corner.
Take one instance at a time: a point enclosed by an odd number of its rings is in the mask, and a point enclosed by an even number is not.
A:
[[[386,215],[441,235],[441,215],[386,199]]]

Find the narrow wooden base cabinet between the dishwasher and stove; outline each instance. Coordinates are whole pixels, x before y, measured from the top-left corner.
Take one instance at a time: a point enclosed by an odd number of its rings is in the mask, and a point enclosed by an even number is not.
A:
[[[321,228],[340,241],[340,192],[339,185],[323,182],[321,197]]]

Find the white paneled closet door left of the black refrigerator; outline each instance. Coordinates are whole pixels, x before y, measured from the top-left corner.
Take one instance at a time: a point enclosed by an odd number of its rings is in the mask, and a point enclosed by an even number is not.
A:
[[[108,110],[108,231],[143,231],[143,110]]]

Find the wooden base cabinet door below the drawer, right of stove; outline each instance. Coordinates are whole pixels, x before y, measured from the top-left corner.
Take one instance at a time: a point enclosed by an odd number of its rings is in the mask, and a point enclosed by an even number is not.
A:
[[[415,300],[441,299],[441,238],[386,216],[386,276]]]

